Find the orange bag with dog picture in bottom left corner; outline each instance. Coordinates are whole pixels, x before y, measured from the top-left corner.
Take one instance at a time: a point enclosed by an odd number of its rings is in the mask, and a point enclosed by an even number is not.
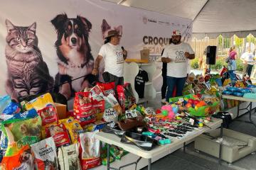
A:
[[[13,146],[15,147],[15,146]],[[11,146],[9,148],[12,148]],[[34,170],[34,157],[31,154],[31,149],[28,145],[21,149],[14,149],[9,155],[4,156],[1,162],[1,170]]]

